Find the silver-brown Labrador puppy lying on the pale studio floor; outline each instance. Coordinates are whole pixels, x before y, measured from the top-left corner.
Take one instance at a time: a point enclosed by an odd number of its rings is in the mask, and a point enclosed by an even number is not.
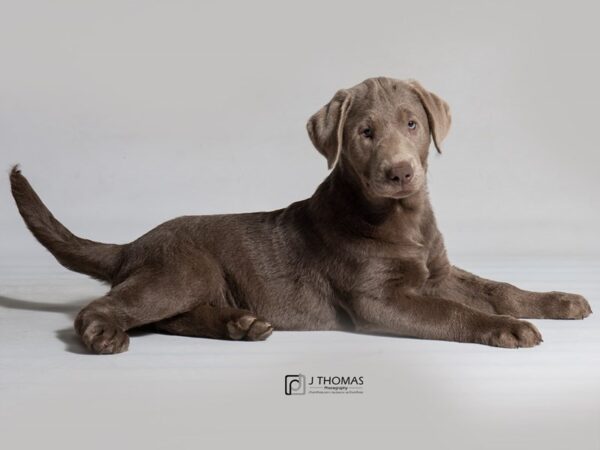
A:
[[[110,283],[75,330],[94,353],[127,350],[128,330],[260,341],[273,330],[347,330],[533,347],[523,318],[582,319],[580,295],[528,292],[450,264],[427,193],[445,101],[414,80],[370,78],[308,121],[331,172],[314,195],[272,212],[186,216],[124,245],[79,238],[22,175],[27,227],[66,268]]]

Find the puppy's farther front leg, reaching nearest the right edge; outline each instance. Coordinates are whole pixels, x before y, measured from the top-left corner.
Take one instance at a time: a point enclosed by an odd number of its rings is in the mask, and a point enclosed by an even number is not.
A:
[[[458,267],[434,289],[480,311],[530,319],[583,319],[591,314],[581,295],[565,292],[530,292],[508,283],[486,280]]]

